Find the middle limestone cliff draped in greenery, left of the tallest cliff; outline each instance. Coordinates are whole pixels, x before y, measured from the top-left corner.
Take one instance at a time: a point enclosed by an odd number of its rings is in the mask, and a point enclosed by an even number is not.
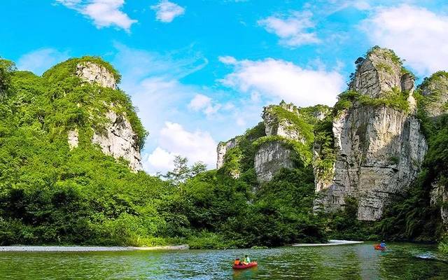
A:
[[[294,168],[295,158],[311,162],[313,125],[330,112],[327,106],[298,108],[281,102],[266,106],[262,123],[246,134],[218,145],[218,169],[238,178],[253,168],[260,183],[270,181],[282,168]],[[250,162],[241,167],[240,162]]]

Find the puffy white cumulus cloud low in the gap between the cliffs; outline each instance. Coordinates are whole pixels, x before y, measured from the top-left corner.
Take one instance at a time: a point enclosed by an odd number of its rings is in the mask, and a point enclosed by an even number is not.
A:
[[[160,130],[159,143],[144,162],[145,169],[151,173],[173,169],[176,155],[187,157],[191,163],[204,162],[209,167],[216,164],[216,142],[209,132],[189,132],[179,123],[166,122]]]

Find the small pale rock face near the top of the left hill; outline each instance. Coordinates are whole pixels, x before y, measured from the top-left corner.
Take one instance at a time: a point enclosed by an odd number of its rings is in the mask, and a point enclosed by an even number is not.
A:
[[[98,83],[102,87],[117,87],[112,73],[103,66],[92,62],[82,62],[76,66],[76,75],[88,83]]]

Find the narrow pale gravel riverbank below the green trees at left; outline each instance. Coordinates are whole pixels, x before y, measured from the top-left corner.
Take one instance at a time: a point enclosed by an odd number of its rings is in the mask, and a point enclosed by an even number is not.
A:
[[[132,247],[132,246],[0,246],[0,252],[114,252],[188,250],[187,244],[176,246]]]

